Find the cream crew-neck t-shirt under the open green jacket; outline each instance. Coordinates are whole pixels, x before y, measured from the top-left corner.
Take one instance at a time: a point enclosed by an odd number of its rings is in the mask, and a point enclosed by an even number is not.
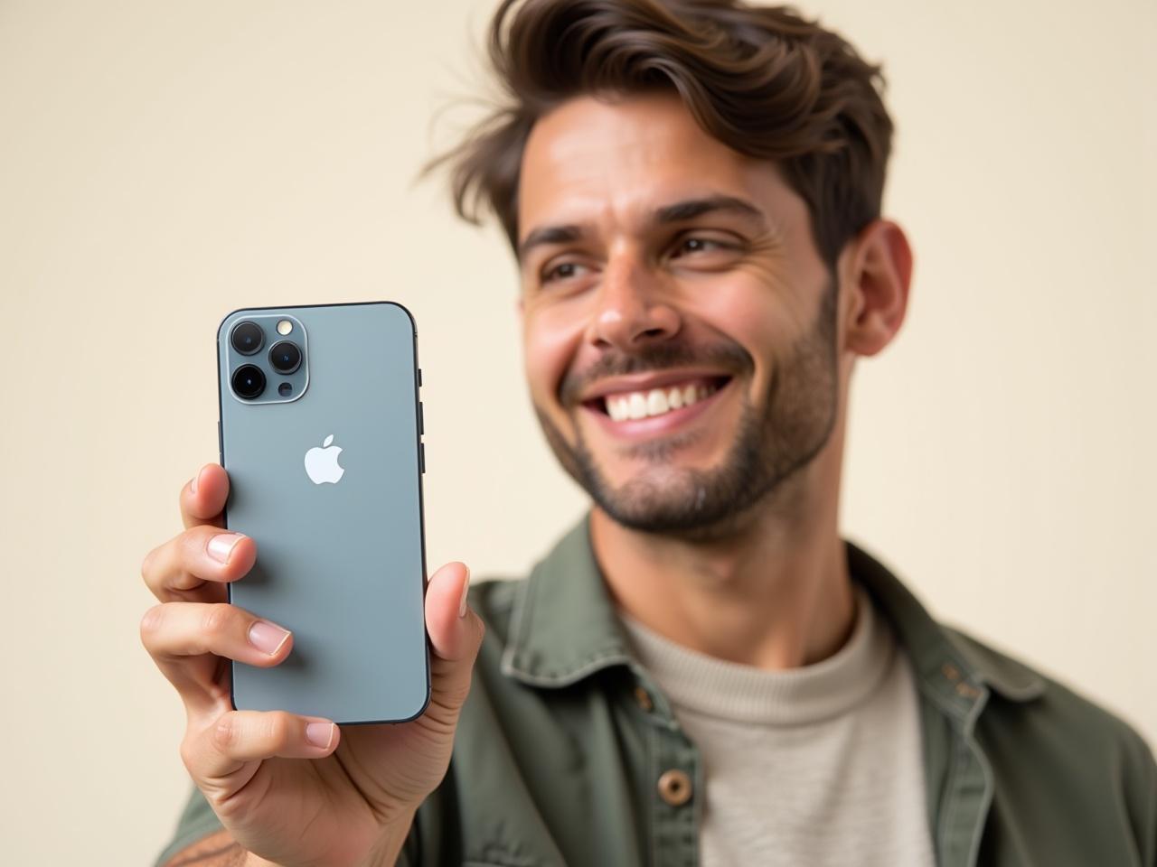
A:
[[[705,867],[935,865],[915,682],[862,588],[845,646],[790,670],[697,653],[620,617],[700,750]]]

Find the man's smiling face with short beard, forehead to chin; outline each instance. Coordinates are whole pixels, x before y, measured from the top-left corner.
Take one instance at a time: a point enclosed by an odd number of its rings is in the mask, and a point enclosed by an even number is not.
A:
[[[581,97],[539,120],[518,227],[531,399],[614,520],[727,526],[825,445],[837,288],[806,205],[676,96]]]

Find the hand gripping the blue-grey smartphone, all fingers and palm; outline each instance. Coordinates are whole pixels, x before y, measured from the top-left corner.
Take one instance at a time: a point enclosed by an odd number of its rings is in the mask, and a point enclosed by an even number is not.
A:
[[[482,622],[465,605],[469,570],[449,563],[429,579],[432,695],[418,719],[342,731],[283,711],[235,711],[228,660],[279,665],[293,636],[226,601],[224,585],[257,557],[253,540],[222,528],[228,491],[224,469],[202,467],[180,491],[185,531],[141,566],[161,600],[141,620],[141,642],[184,702],[180,756],[249,852],[286,867],[345,867],[371,852],[392,862],[418,805],[445,775],[470,690]]]

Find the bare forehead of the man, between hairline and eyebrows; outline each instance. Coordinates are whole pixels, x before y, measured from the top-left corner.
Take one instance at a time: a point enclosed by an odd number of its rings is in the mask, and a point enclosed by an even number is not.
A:
[[[732,194],[766,205],[786,190],[768,162],[703,132],[673,94],[582,96],[544,116],[523,151],[521,236],[543,222],[631,224],[669,201]]]

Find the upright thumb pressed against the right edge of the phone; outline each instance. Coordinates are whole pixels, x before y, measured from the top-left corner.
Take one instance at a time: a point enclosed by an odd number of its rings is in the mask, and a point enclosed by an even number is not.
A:
[[[426,631],[430,637],[430,706],[427,713],[456,718],[470,691],[470,675],[482,643],[481,618],[466,607],[470,570],[447,563],[426,587]]]

